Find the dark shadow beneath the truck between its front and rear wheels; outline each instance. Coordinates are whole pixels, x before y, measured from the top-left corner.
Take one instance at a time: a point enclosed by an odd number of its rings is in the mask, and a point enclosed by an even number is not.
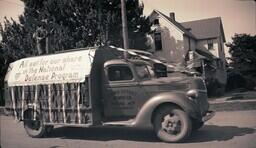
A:
[[[54,128],[48,138],[81,139],[95,141],[128,140],[159,142],[151,129],[135,129],[127,127]]]

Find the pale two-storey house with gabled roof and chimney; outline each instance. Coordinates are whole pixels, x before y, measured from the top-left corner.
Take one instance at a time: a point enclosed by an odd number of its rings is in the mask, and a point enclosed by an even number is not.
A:
[[[185,66],[192,63],[208,82],[218,83],[217,93],[223,91],[227,74],[225,34],[220,17],[179,23],[174,13],[166,16],[153,10],[149,20],[152,23],[150,51],[154,55],[167,63]]]

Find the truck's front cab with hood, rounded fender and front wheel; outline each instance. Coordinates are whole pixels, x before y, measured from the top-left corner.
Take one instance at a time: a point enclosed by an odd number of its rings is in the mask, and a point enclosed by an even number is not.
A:
[[[142,60],[110,60],[104,63],[103,69],[103,116],[108,121],[105,125],[151,126],[162,140],[172,142],[163,133],[177,132],[175,128],[188,124],[188,134],[192,128],[200,128],[206,116],[212,116],[201,78],[180,72],[173,72],[171,77],[157,77],[157,70]],[[171,116],[172,111],[187,117]],[[186,120],[181,121],[181,118]],[[163,127],[166,131],[159,132]]]

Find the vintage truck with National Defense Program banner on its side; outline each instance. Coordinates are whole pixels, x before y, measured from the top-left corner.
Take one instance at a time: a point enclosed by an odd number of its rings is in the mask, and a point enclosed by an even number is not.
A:
[[[131,57],[123,58],[123,52]],[[115,47],[28,57],[9,65],[6,111],[31,137],[54,125],[153,127],[165,142],[185,140],[213,117],[200,77]],[[162,73],[162,74],[161,74]]]

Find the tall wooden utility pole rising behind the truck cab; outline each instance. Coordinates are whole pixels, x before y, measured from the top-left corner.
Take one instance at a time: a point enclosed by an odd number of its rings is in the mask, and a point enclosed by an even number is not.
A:
[[[129,41],[128,41],[128,27],[127,27],[125,0],[121,0],[121,12],[122,12],[122,30],[123,30],[124,49],[128,49]],[[124,52],[124,58],[127,59],[127,52]]]

